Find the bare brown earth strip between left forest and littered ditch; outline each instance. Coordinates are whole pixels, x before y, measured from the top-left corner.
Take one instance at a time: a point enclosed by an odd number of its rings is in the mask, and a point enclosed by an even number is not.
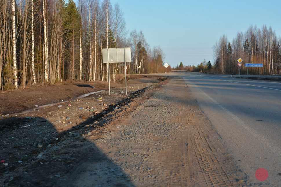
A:
[[[128,75],[127,84],[131,86],[149,83],[149,79],[151,79],[151,83],[155,83],[156,78],[157,76],[154,75]],[[125,76],[116,76],[116,83],[111,83],[111,88],[125,88]],[[76,80],[55,85],[45,84],[44,86],[27,86],[25,89],[19,88],[18,90],[12,91],[0,91],[0,117],[2,115],[3,118],[7,114],[36,108],[36,106],[56,103],[61,100],[71,100],[74,97],[99,90],[108,90],[108,83]]]

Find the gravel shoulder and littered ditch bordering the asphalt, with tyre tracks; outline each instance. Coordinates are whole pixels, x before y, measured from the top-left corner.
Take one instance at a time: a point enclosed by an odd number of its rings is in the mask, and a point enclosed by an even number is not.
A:
[[[182,79],[131,87],[1,121],[0,185],[246,185]]]

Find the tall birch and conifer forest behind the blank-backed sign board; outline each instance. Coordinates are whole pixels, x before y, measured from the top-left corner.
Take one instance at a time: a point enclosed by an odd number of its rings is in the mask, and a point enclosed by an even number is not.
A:
[[[127,73],[163,71],[160,47],[142,31],[128,32],[124,12],[110,0],[0,1],[0,90],[65,80],[108,81],[103,48],[132,48]],[[110,64],[110,80],[124,73]]]

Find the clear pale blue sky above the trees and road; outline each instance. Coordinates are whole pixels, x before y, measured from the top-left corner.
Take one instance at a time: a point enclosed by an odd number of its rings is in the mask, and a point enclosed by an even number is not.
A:
[[[213,63],[212,46],[225,34],[231,42],[237,32],[249,25],[271,26],[281,32],[281,1],[180,1],[111,0],[124,11],[126,27],[142,30],[150,47],[163,49],[164,62],[176,66],[198,65],[205,58]]]

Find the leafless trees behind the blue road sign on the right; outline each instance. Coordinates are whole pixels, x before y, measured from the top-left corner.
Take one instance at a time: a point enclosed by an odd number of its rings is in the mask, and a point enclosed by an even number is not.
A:
[[[214,45],[213,71],[220,74],[238,73],[237,60],[243,60],[241,73],[247,74],[245,63],[263,64],[261,74],[281,74],[281,38],[271,27],[249,26],[246,32],[238,32],[231,42],[223,35]],[[258,74],[259,68],[248,68],[249,74]]]

